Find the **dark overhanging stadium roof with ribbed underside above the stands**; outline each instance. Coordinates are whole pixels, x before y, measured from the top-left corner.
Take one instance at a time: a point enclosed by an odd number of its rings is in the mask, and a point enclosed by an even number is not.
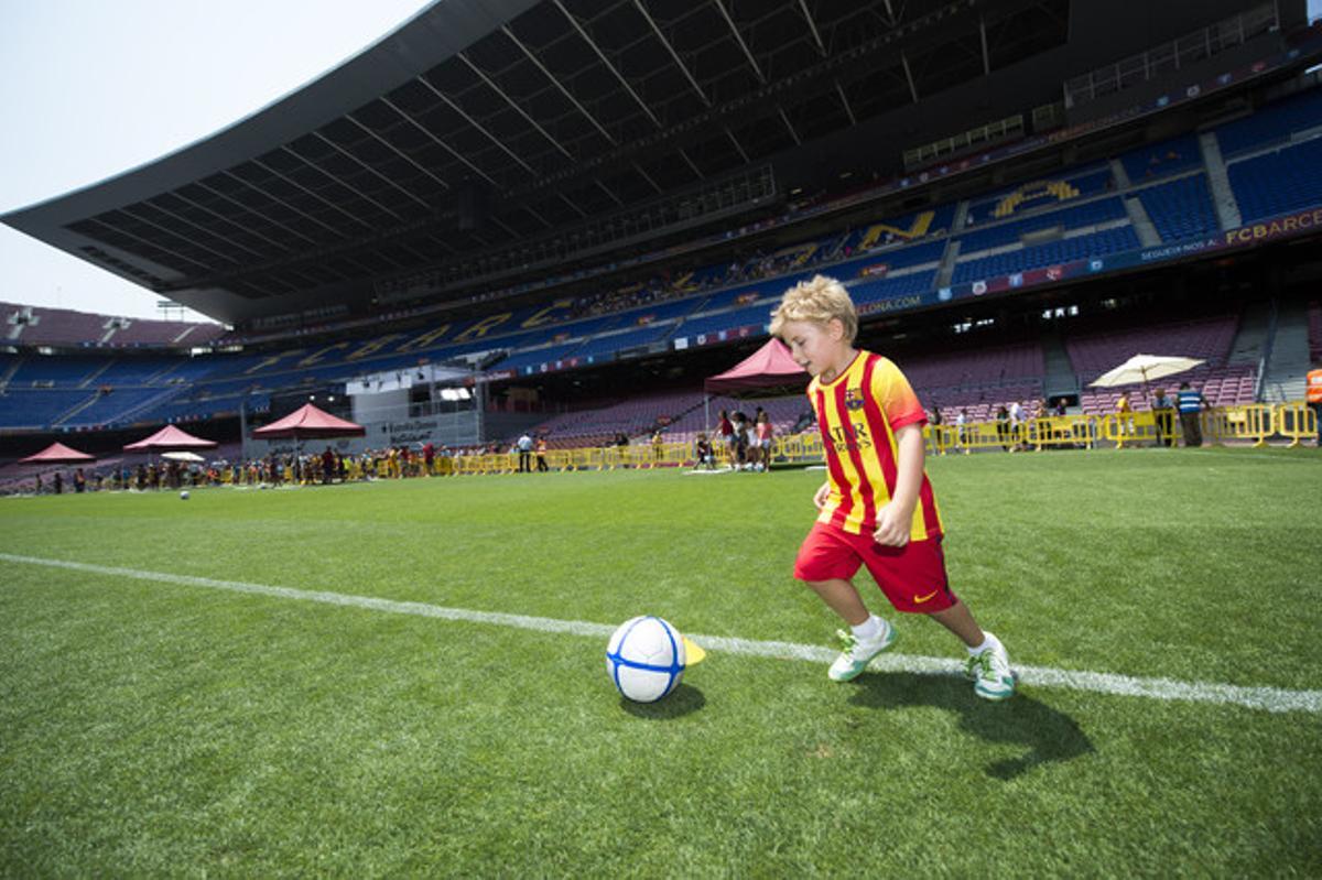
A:
[[[442,0],[157,161],[3,219],[212,317],[564,229],[1063,45],[1069,0]]]

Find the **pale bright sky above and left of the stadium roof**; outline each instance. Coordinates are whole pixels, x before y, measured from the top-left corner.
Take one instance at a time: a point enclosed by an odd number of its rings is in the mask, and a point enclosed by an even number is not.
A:
[[[430,3],[0,0],[0,214],[206,137]],[[0,301],[160,317],[159,295],[3,225]]]

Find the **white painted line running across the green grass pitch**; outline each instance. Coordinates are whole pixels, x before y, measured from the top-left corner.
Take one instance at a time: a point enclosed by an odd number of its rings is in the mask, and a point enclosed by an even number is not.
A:
[[[288,587],[250,584],[238,580],[215,580],[212,577],[141,571],[137,568],[93,566],[89,563],[66,562],[62,559],[41,559],[37,556],[19,556],[16,554],[0,552],[0,560],[15,564],[65,568],[69,571],[81,571],[93,575],[151,580],[161,584],[205,587],[208,589],[225,589],[235,593],[253,593],[256,596],[272,596],[276,599],[293,599],[305,603],[321,603],[325,605],[365,608],[391,614],[412,614],[415,617],[436,617],[440,620],[457,620],[472,624],[490,624],[493,626],[513,626],[517,629],[531,629],[541,633],[591,636],[603,640],[603,642],[611,636],[611,633],[615,632],[615,626],[611,624],[592,624],[582,620],[555,620],[553,617],[530,617],[526,614],[505,614],[500,612],[471,610],[467,608],[447,608],[444,605],[428,605],[426,603],[399,603],[390,599],[375,599],[373,596],[352,596],[346,593],[332,593],[313,589],[291,589]],[[817,645],[800,645],[796,642],[759,642],[747,638],[702,636],[698,633],[687,633],[687,636],[709,651],[717,653],[724,651],[728,654],[743,654],[751,657],[797,659],[813,663],[829,663],[836,659],[834,650]],[[873,661],[871,667],[880,671],[912,673],[920,675],[961,675],[964,670],[962,663],[956,659],[916,657],[911,654],[883,654]],[[1019,675],[1019,680],[1022,683],[1036,687],[1062,687],[1072,691],[1114,694],[1118,696],[1145,696],[1157,700],[1243,706],[1266,712],[1322,714],[1322,691],[1292,691],[1278,687],[1241,687],[1237,684],[1218,684],[1208,682],[1181,682],[1169,678],[1133,678],[1129,675],[1113,675],[1110,673],[1071,671],[1054,669],[1051,666],[1017,665],[1015,673]]]

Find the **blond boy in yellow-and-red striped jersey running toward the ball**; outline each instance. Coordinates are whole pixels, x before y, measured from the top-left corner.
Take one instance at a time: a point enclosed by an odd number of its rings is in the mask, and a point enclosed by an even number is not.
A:
[[[1010,658],[947,583],[941,515],[923,472],[927,416],[908,381],[886,358],[854,348],[858,313],[843,285],[818,275],[785,292],[771,332],[813,375],[829,478],[813,502],[821,514],[798,550],[805,581],[850,630],[828,675],[857,678],[895,642],[895,628],[869,613],[853,577],[866,566],[899,612],[928,614],[969,649],[973,690],[989,700],[1014,695]]]

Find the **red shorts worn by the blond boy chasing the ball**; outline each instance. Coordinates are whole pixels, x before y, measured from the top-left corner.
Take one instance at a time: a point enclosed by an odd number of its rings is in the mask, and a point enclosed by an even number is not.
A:
[[[945,577],[940,535],[911,540],[903,547],[884,547],[873,540],[870,531],[851,535],[818,522],[798,548],[795,577],[849,580],[859,566],[867,566],[895,610],[931,614],[957,601]]]

